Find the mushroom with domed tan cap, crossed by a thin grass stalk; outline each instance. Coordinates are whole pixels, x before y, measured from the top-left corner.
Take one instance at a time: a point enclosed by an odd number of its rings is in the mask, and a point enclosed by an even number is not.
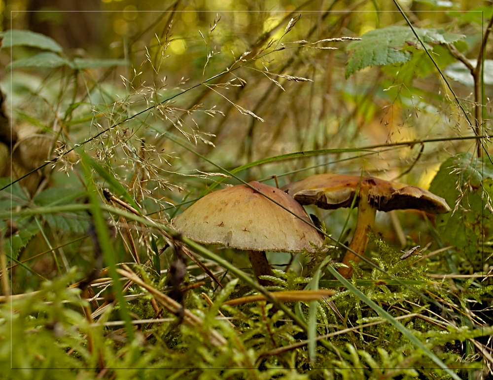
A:
[[[248,250],[253,273],[273,275],[265,251],[314,253],[323,239],[310,226],[305,209],[284,191],[256,181],[253,188],[269,196],[301,219],[246,185],[217,190],[200,198],[172,220],[188,238]],[[312,243],[312,244],[311,244]],[[262,285],[272,284],[260,280]]]

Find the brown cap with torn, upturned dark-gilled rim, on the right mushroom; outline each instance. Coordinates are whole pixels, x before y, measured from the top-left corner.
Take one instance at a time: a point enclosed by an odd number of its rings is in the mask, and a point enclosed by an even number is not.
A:
[[[368,203],[377,210],[418,209],[430,214],[450,211],[445,199],[427,190],[373,177],[317,174],[288,184],[282,187],[282,190],[301,204],[336,209],[351,206],[360,179],[360,190],[368,189]]]

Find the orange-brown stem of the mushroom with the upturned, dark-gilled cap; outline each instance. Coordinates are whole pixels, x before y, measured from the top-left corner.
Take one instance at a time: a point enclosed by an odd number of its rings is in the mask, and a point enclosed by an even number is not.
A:
[[[377,209],[368,202],[368,191],[361,192],[358,202],[356,228],[354,229],[352,241],[349,245],[350,249],[361,256],[364,255],[366,247],[368,246],[368,241],[370,239],[368,234],[371,232],[373,225],[375,224],[376,213]],[[361,259],[351,251],[347,251],[342,262],[348,267],[339,268],[339,273],[344,276],[344,278],[350,278],[353,268],[349,265],[349,262],[353,261],[358,264],[360,260]]]

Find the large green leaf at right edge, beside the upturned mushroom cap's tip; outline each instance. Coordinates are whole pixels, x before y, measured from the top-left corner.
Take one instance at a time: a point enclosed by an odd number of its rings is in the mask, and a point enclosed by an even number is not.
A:
[[[474,158],[471,153],[447,159],[430,185],[431,192],[443,197],[455,209],[437,215],[438,230],[471,260],[481,249],[484,227],[493,223],[489,208],[492,207],[492,185],[493,165],[488,159]]]

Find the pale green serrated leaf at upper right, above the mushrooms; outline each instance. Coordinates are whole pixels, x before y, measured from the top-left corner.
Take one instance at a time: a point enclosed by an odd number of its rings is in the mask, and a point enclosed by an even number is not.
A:
[[[416,32],[429,49],[433,49],[437,44],[451,43],[465,38],[463,35],[443,33],[438,29],[416,28]],[[346,66],[346,78],[365,67],[408,62],[413,52],[423,48],[413,31],[403,26],[375,29],[365,33],[361,38],[347,46],[347,50],[354,52]]]

